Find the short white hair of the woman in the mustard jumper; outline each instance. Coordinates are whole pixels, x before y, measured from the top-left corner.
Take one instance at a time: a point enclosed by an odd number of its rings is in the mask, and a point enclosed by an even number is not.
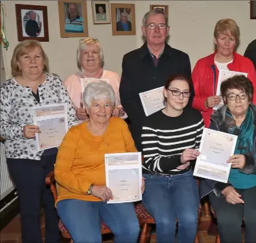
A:
[[[91,107],[95,100],[110,100],[111,106],[114,107],[115,96],[113,87],[105,81],[90,82],[84,89],[84,104]]]

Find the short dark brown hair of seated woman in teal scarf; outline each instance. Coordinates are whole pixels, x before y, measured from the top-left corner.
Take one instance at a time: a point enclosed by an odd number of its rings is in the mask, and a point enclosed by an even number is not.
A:
[[[251,102],[254,89],[251,80],[249,78],[246,78],[246,76],[235,75],[231,78],[224,80],[221,83],[221,96],[226,96],[226,91],[228,89],[239,89],[241,91],[244,91],[248,95],[249,102]]]

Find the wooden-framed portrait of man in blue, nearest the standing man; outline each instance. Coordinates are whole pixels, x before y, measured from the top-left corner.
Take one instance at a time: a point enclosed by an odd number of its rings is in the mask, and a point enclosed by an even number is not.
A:
[[[135,4],[111,3],[112,35],[136,35]]]

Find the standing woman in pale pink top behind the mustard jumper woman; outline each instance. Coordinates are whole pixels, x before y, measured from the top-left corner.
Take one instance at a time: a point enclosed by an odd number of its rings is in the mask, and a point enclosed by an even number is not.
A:
[[[120,76],[113,71],[103,69],[104,56],[102,46],[98,39],[87,37],[79,42],[77,48],[77,65],[79,71],[64,80],[64,86],[68,89],[69,96],[76,108],[77,118],[80,122],[88,119],[86,110],[82,104],[82,89],[80,78],[96,78],[108,80],[114,89],[115,102],[113,116],[120,116],[123,119],[127,115],[120,103],[119,85]]]

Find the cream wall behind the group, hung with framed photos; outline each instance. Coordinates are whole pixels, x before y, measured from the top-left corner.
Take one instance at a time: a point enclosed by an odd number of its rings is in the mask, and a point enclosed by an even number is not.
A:
[[[10,59],[17,41],[15,3],[20,1],[1,1],[7,12],[6,36],[10,42],[8,51],[3,51],[10,75]],[[134,3],[136,12],[136,33],[131,36],[113,36],[111,24],[93,25],[91,1],[87,1],[89,36],[98,38],[104,49],[105,69],[122,72],[122,57],[128,51],[139,48],[142,40],[142,17],[150,4],[169,5],[169,44],[188,53],[191,65],[214,50],[213,31],[215,23],[222,18],[232,18],[241,29],[241,44],[237,49],[243,54],[251,40],[256,39],[256,20],[250,20],[248,1],[110,1],[110,3]],[[23,1],[23,4],[48,6],[50,42],[42,46],[50,59],[51,72],[65,78],[77,71],[76,48],[79,38],[60,38],[59,10],[57,1]]]

